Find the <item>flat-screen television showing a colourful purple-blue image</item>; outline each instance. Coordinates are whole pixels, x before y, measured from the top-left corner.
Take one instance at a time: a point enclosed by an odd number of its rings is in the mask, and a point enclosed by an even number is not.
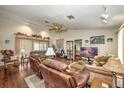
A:
[[[94,58],[94,56],[98,55],[98,48],[97,47],[81,47],[80,55],[81,57]]]

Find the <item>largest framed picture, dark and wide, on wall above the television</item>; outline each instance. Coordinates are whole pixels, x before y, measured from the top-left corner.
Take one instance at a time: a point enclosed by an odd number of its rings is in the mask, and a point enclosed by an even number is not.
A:
[[[105,44],[105,36],[92,36],[90,37],[90,44]]]

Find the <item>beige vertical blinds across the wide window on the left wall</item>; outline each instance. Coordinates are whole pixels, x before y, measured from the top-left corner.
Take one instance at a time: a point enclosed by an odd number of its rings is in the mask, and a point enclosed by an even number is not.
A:
[[[25,53],[29,55],[30,51],[46,51],[48,48],[48,42],[39,40],[27,40],[27,39],[15,39],[15,51],[17,55],[20,55],[21,49],[25,50]]]

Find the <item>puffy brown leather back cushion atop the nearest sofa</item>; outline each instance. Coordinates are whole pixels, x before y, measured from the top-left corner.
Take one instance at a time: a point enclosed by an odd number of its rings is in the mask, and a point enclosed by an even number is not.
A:
[[[61,72],[65,71],[68,67],[67,64],[57,61],[57,60],[52,60],[52,59],[46,59],[43,61],[43,64],[46,66],[49,66],[51,68],[54,68],[56,70],[59,70]]]

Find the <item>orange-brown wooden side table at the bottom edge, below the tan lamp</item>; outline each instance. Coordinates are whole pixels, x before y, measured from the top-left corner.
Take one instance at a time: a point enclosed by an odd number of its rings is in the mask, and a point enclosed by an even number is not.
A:
[[[91,88],[105,88],[103,85],[108,85],[109,88],[112,87],[112,81],[105,78],[95,77],[92,81]]]

